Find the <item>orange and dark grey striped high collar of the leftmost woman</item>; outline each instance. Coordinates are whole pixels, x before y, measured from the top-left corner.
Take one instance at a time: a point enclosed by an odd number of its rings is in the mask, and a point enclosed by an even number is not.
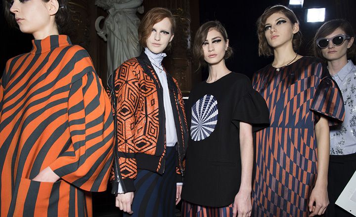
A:
[[[32,40],[31,53],[39,54],[48,52],[56,47],[72,44],[69,37],[66,35],[47,36],[42,40]]]

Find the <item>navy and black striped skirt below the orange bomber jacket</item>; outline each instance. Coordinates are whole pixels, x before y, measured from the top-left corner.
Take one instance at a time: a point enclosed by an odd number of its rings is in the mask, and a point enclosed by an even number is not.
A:
[[[131,206],[134,214],[124,217],[174,217],[176,210],[176,147],[167,147],[162,175],[137,170],[136,191]]]

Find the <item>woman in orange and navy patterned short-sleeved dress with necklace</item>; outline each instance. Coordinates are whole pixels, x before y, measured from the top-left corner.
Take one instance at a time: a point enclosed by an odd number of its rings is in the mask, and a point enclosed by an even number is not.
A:
[[[270,127],[256,135],[254,216],[316,216],[329,203],[329,125],[341,122],[341,92],[320,59],[298,55],[299,21],[282,5],[257,21],[259,54],[274,56],[253,87],[265,98]]]

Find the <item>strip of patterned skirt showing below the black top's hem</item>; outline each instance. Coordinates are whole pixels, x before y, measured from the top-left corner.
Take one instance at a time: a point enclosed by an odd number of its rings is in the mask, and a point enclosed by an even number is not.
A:
[[[232,217],[232,204],[227,207],[205,207],[191,204],[187,201],[182,203],[182,217]]]

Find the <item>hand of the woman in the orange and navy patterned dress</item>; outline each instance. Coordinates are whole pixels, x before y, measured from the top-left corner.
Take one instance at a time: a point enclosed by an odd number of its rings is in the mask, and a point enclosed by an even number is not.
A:
[[[315,206],[314,206],[315,203]],[[325,213],[326,207],[329,205],[329,198],[327,194],[327,187],[315,185],[309,198],[309,212],[310,217],[322,215]]]

